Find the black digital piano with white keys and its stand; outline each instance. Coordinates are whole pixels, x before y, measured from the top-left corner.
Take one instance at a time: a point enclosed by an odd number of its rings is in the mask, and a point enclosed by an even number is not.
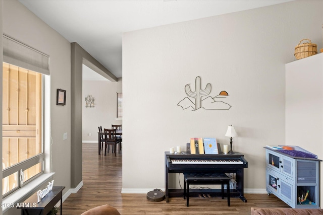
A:
[[[248,167],[244,155],[235,152],[234,154],[219,155],[196,155],[196,154],[171,154],[165,152],[165,197],[178,196],[179,189],[169,189],[169,173],[183,172],[224,172],[236,173],[237,188],[230,193],[238,195],[244,202],[247,199],[243,196],[243,169]]]

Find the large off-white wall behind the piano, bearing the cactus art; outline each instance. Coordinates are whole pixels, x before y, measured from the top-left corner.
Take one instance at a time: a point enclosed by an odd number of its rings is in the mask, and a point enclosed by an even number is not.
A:
[[[285,63],[303,38],[322,47],[322,8],[293,1],[125,33],[123,192],[164,188],[165,151],[190,137],[229,144],[230,124],[239,134],[233,150],[248,161],[246,192],[265,192],[263,147],[285,144]],[[197,76],[211,95],[227,91],[232,108],[177,106]]]

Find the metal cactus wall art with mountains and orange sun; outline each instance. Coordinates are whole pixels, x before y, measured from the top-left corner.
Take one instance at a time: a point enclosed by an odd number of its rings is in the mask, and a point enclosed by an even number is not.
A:
[[[205,89],[202,89],[201,78],[198,76],[195,78],[195,90],[192,91],[190,85],[185,85],[185,93],[188,97],[185,97],[177,105],[184,109],[191,109],[193,111],[203,108],[205,110],[229,110],[231,105],[221,101],[229,96],[226,91],[221,91],[219,95],[211,97],[209,95],[211,92],[211,84],[208,83]],[[193,98],[192,101],[189,97]]]

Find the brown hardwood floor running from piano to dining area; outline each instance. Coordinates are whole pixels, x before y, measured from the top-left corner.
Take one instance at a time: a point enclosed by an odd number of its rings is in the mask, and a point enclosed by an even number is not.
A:
[[[190,206],[182,197],[170,202],[152,202],[146,194],[122,194],[122,153],[97,154],[97,144],[83,144],[83,187],[63,202],[63,214],[82,212],[109,204],[122,215],[128,214],[250,214],[251,207],[289,207],[274,195],[245,194],[248,202],[232,197],[231,206],[221,197],[191,197]]]

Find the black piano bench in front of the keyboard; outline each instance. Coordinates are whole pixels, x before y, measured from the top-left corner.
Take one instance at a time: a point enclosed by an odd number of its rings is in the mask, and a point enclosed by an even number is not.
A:
[[[184,199],[188,206],[189,188],[191,184],[221,184],[222,199],[224,199],[224,185],[227,185],[228,206],[230,206],[230,178],[225,173],[183,173]]]

